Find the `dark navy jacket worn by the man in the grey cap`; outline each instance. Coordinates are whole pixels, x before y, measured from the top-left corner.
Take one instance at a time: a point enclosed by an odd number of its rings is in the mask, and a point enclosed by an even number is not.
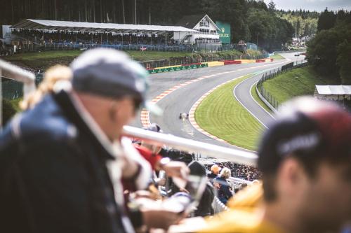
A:
[[[1,232],[125,232],[106,161],[68,95],[48,95],[0,134]]]

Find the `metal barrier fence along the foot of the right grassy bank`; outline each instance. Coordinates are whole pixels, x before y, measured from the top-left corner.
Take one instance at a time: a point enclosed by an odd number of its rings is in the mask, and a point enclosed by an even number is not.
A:
[[[286,73],[288,71],[291,71],[291,69],[296,69],[296,68],[300,68],[303,66],[307,66],[307,64],[308,63],[305,62],[304,60],[291,62],[289,64],[285,64],[284,66],[282,66],[278,69],[271,70],[269,73],[266,72],[263,74],[262,78],[260,78],[260,80],[258,80],[256,87],[257,87],[258,92],[260,92],[259,94],[268,102],[268,104],[267,104],[268,106],[270,104],[272,106],[272,108],[277,109],[281,103],[279,103],[279,101],[277,99],[275,99],[274,96],[272,96],[272,94],[270,94],[270,92],[265,90],[265,87],[263,87],[263,83],[266,80],[274,78],[275,76],[278,76],[281,73]],[[272,110],[274,110],[274,109],[272,109]]]

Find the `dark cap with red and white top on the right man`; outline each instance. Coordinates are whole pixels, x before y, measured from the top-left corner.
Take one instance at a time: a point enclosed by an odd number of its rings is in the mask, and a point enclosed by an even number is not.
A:
[[[287,102],[263,134],[258,168],[277,171],[289,155],[351,161],[351,115],[338,104],[312,97]]]

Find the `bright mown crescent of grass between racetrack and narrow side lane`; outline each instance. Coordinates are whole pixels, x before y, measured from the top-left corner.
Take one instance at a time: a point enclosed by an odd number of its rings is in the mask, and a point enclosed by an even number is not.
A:
[[[201,101],[194,117],[206,132],[235,146],[256,150],[263,126],[233,96],[234,87],[249,77],[251,75],[214,90]]]

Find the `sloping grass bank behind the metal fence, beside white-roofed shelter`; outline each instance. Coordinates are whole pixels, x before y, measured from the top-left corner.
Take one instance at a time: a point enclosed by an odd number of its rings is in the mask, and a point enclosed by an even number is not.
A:
[[[340,82],[329,76],[321,76],[311,66],[292,69],[263,83],[267,92],[282,103],[293,97],[312,95],[314,85],[340,85]]]

